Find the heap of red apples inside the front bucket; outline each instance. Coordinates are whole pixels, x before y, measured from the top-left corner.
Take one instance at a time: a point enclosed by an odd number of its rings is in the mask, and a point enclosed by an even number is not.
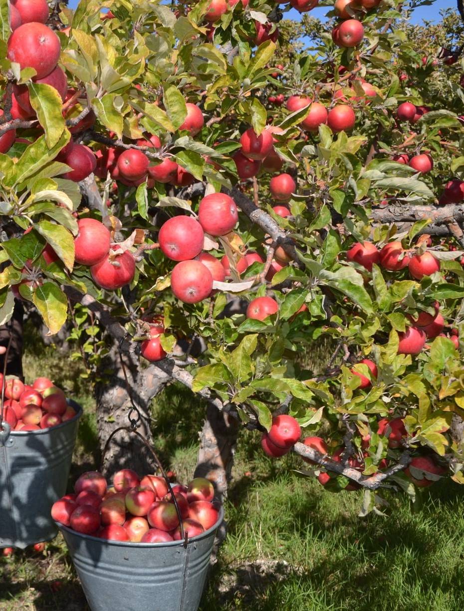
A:
[[[219,510],[213,504],[211,481],[197,477],[188,486],[172,484],[184,532],[201,535],[216,524]],[[112,486],[97,471],[81,475],[73,494],[65,494],[51,508],[60,524],[84,535],[132,543],[166,543],[181,540],[179,516],[164,478],[140,478],[131,469],[114,475]]]

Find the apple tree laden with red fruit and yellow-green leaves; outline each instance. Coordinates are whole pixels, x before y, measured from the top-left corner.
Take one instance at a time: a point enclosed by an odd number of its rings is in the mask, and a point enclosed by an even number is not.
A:
[[[68,325],[102,443],[181,382],[219,492],[246,426],[364,514],[464,482],[463,27],[316,5],[0,0],[0,323]]]

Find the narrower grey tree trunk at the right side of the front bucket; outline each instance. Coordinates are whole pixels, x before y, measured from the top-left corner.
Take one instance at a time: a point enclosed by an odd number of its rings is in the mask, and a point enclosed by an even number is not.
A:
[[[234,464],[239,423],[212,405],[200,433],[200,450],[195,477],[207,477],[214,483],[221,502],[227,497],[227,485]]]

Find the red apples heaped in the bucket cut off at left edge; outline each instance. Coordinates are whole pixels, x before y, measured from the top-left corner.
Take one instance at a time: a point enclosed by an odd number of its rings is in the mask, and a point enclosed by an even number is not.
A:
[[[0,374],[0,385],[3,375]],[[3,418],[13,431],[38,431],[71,420],[76,411],[68,405],[65,393],[48,378],[37,378],[32,386],[19,378],[5,380]]]

